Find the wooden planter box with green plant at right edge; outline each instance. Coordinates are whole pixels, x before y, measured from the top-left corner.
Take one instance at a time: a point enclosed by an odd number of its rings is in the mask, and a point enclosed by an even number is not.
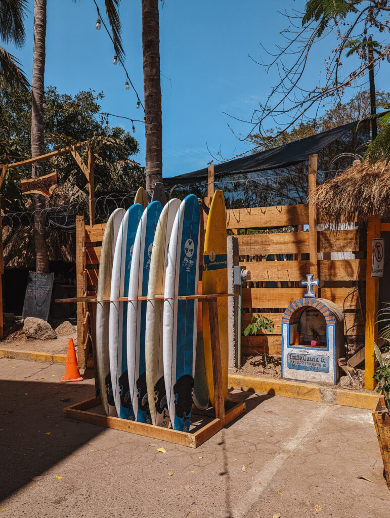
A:
[[[390,489],[390,356],[383,357],[376,343],[374,351],[379,364],[374,371],[374,379],[378,381],[377,392],[380,395],[372,411],[372,418],[377,430],[386,482]]]

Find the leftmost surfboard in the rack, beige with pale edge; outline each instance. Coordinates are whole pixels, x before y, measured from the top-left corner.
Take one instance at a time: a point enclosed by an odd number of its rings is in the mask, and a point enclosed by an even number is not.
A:
[[[119,228],[126,211],[116,209],[108,218],[100,252],[97,300],[110,298],[112,262]],[[110,303],[98,302],[96,306],[96,368],[100,397],[107,415],[114,415],[115,402],[112,394],[109,355]]]

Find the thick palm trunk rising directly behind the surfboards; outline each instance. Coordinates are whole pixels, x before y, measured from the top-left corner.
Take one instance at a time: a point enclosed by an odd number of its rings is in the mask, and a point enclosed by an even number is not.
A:
[[[145,94],[146,189],[163,180],[160,26],[158,0],[142,0],[143,91]]]

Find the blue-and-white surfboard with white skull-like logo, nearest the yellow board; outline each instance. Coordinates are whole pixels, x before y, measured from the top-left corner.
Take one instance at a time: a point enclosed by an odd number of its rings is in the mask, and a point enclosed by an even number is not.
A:
[[[198,293],[198,198],[186,196],[176,214],[168,249],[164,290],[163,355],[169,416],[175,430],[189,431],[194,387]]]

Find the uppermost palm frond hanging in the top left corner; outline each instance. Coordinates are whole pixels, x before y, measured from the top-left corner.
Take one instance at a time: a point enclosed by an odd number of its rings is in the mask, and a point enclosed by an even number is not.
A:
[[[25,41],[24,18],[28,0],[2,0],[0,2],[0,37],[5,43],[22,47]]]

